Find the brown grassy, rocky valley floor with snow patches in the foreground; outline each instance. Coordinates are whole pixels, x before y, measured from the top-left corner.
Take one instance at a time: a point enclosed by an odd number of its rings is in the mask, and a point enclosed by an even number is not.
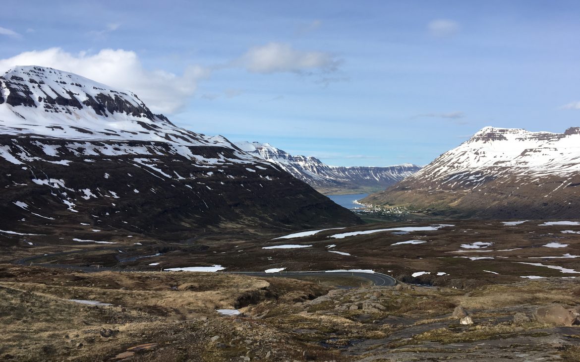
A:
[[[12,246],[0,265],[0,358],[580,359],[580,327],[532,317],[554,304],[580,312],[575,220],[383,222],[174,242],[92,228],[5,236]],[[333,273],[294,280],[166,269],[374,270],[399,284]],[[452,316],[458,306],[473,324]]]

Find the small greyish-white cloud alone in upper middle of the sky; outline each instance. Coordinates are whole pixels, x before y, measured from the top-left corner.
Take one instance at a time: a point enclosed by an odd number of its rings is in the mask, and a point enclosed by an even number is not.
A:
[[[305,52],[293,49],[289,44],[269,43],[254,46],[234,65],[244,67],[251,73],[296,73],[314,75],[338,70],[341,61],[325,52]]]

